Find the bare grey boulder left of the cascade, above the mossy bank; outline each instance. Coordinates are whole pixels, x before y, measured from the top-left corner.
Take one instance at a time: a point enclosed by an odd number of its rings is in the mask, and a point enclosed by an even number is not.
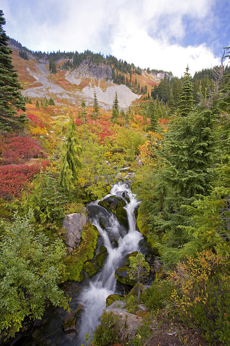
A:
[[[66,218],[62,219],[62,227],[66,230],[66,233],[63,234],[64,241],[69,250],[79,245],[83,226],[87,222],[88,217],[83,212],[80,214],[67,214]]]

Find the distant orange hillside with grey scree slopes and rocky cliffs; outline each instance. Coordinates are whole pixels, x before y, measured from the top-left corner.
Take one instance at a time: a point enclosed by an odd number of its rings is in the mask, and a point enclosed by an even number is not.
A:
[[[165,76],[171,78],[167,72],[141,70],[134,64],[90,51],[46,54],[30,51],[14,39],[9,39],[8,44],[13,49],[22,94],[32,100],[52,97],[56,104],[77,106],[84,98],[90,105],[95,90],[101,108],[112,108],[115,92],[119,107],[127,108],[144,92],[151,93]],[[55,61],[56,73],[49,71],[51,59]]]

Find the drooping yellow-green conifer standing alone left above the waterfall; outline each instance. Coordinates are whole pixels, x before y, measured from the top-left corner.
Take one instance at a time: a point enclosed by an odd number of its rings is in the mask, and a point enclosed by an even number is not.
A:
[[[67,191],[71,191],[74,189],[74,183],[78,178],[78,171],[82,167],[79,160],[82,147],[78,144],[76,125],[71,115],[67,126],[66,143],[63,144],[62,152],[58,182]]]

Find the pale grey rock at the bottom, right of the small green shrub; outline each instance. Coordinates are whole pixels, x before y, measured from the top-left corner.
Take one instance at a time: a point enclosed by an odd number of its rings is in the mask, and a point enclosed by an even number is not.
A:
[[[109,310],[105,310],[109,311]],[[136,329],[141,326],[142,318],[132,313],[128,313],[125,309],[113,309],[114,315],[119,315],[121,320],[119,322],[119,342],[122,344],[124,341],[131,342],[136,336]]]

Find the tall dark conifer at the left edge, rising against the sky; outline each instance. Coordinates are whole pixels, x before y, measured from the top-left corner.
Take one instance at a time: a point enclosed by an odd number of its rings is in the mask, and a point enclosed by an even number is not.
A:
[[[22,125],[26,115],[16,116],[17,110],[26,111],[26,104],[21,95],[22,89],[18,74],[14,70],[10,54],[12,49],[8,48],[9,36],[3,30],[6,20],[3,11],[0,10],[0,128],[10,130],[12,126]]]

